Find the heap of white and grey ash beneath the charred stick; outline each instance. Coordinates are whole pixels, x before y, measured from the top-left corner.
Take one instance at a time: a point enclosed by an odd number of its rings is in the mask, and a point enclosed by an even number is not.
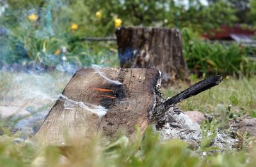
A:
[[[163,127],[159,128],[159,125]],[[191,119],[184,113],[181,113],[177,107],[170,107],[168,112],[157,120],[156,130],[159,132],[159,136],[163,141],[179,138],[184,141],[194,140],[200,145],[200,141],[202,140],[200,125],[193,123]],[[219,151],[232,150],[237,140],[231,138],[228,134],[219,129],[216,129],[215,133],[216,136],[212,139],[212,143],[209,147],[219,147]],[[211,135],[211,132],[207,132],[207,136]]]

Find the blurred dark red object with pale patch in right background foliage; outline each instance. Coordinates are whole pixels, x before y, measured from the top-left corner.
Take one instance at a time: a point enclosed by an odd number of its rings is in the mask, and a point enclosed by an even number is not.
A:
[[[202,35],[209,40],[235,40],[238,42],[252,42],[252,36],[255,35],[255,30],[243,28],[239,25],[221,26],[216,31]]]

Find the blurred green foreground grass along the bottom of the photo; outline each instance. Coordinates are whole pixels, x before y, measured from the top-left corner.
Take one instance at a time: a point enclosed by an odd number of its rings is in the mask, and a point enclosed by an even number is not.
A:
[[[190,150],[184,141],[172,139],[165,143],[147,131],[142,139],[125,136],[104,144],[104,140],[76,140],[73,147],[61,153],[60,148],[33,143],[13,143],[0,138],[1,166],[253,166],[255,149],[202,156]],[[248,160],[251,160],[250,163]]]

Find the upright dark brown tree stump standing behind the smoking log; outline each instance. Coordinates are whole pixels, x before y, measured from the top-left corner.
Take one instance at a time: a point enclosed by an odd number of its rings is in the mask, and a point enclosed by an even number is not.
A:
[[[120,28],[116,36],[120,67],[154,67],[163,72],[162,85],[173,83],[175,79],[188,80],[178,29]]]

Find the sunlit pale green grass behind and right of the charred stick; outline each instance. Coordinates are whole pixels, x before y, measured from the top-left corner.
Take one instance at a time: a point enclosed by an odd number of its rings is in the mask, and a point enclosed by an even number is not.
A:
[[[196,79],[198,81],[198,79]],[[195,82],[195,81],[194,81]],[[164,89],[164,95],[172,97],[176,93],[188,88],[187,84],[173,86]],[[230,76],[223,79],[220,85],[211,90],[204,91],[195,97],[180,102],[178,106],[182,111],[200,111],[202,113],[218,113],[218,106],[223,104],[235,115],[249,115],[255,117],[256,112],[256,79],[255,77],[239,77],[238,79]],[[218,105],[219,104],[219,105]],[[229,106],[229,107],[228,107]]]

